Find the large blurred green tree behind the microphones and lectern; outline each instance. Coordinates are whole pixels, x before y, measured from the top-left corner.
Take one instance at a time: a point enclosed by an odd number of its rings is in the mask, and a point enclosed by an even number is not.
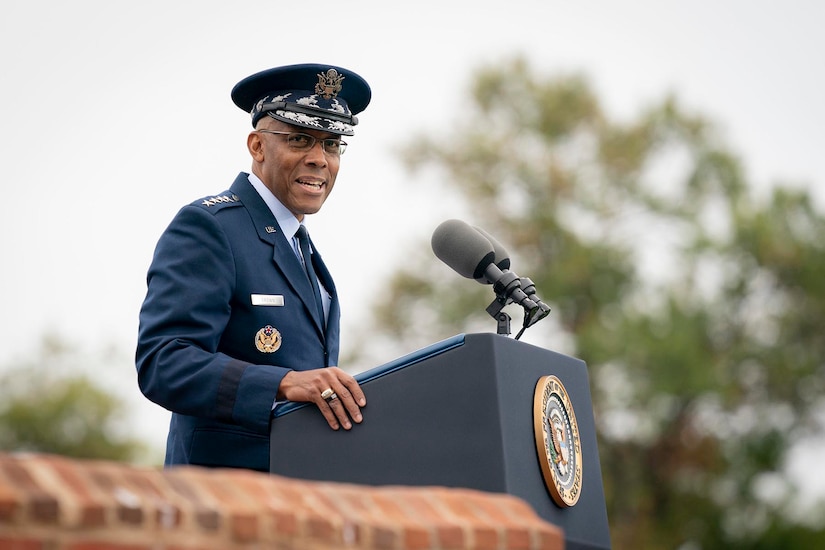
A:
[[[823,508],[801,505],[788,463],[823,433],[812,198],[760,198],[718,128],[675,97],[611,120],[585,78],[542,79],[519,58],[471,88],[454,124],[402,156],[457,191],[456,211],[551,304],[525,335],[588,363],[614,546],[825,547]],[[370,342],[410,350],[495,329],[490,287],[445,284],[457,275],[429,246],[418,254],[391,278]]]

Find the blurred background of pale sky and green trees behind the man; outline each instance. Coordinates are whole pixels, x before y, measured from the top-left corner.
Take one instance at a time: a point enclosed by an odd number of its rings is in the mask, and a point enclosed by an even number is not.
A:
[[[308,221],[343,368],[495,330],[489,287],[430,250],[463,219],[553,307],[522,340],[590,367],[615,547],[825,542],[825,5],[3,11],[0,449],[162,462],[133,363],[154,245],[249,169],[232,86],[330,63],[373,88]]]

